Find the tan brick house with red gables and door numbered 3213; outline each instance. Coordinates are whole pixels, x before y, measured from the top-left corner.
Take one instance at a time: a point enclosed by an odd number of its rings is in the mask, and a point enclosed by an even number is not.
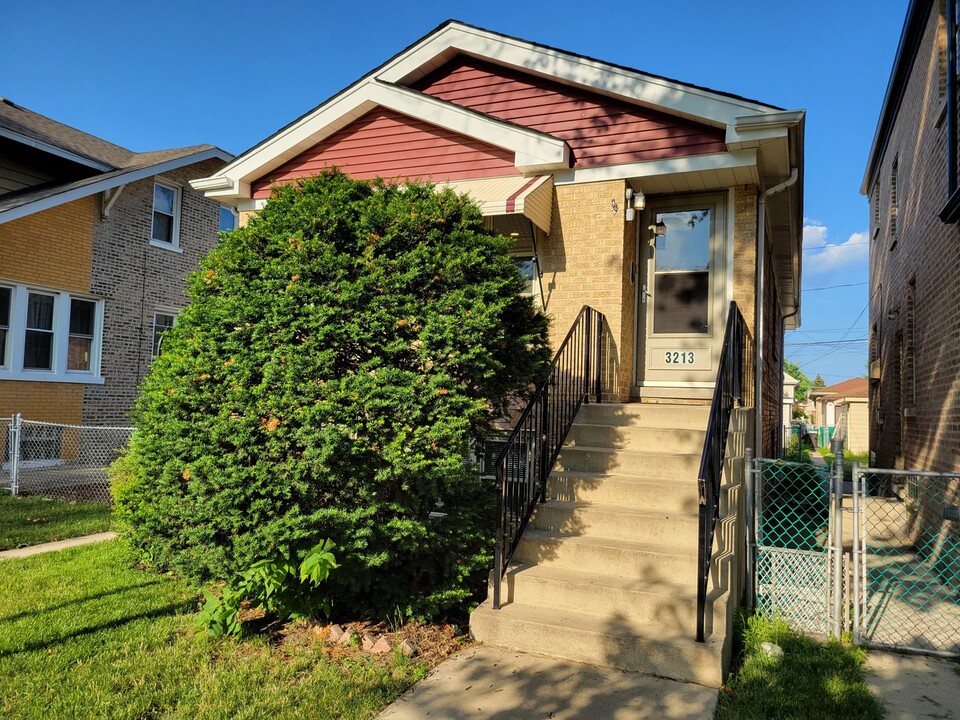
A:
[[[770,455],[799,324],[803,127],[803,111],[450,21],[193,186],[241,222],[330,166],[470,194],[517,237],[555,340],[583,304],[605,314],[613,400],[707,401],[736,300],[752,337],[763,314]]]

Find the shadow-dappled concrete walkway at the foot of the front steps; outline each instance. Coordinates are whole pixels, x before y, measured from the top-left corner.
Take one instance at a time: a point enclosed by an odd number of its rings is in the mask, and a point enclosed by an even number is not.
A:
[[[441,663],[379,720],[697,720],[716,688],[481,645]]]

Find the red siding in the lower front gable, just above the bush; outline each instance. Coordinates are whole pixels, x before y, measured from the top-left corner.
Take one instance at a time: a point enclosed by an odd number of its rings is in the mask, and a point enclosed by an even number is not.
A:
[[[440,182],[519,174],[509,150],[377,108],[254,182],[253,196],[269,197],[271,185],[316,175],[331,166],[359,179]]]

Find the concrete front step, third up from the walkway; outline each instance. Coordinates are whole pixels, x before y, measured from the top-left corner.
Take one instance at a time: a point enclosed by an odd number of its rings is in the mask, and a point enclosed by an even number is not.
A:
[[[697,546],[638,543],[615,538],[567,535],[528,527],[514,552],[515,562],[528,565],[590,568],[594,572],[655,581],[690,582],[697,577]]]

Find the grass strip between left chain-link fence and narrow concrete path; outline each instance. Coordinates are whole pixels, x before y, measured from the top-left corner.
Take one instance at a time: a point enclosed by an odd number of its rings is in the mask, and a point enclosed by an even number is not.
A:
[[[110,508],[0,493],[0,550],[39,545],[110,529]]]

